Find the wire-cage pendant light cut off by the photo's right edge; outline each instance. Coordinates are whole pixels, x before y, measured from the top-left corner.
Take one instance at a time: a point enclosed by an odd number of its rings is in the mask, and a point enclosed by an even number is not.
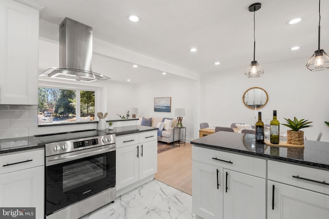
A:
[[[318,32],[318,50],[314,51],[314,54],[308,60],[306,68],[311,71],[322,71],[329,68],[329,56],[320,49],[320,0],[319,0],[319,32]]]

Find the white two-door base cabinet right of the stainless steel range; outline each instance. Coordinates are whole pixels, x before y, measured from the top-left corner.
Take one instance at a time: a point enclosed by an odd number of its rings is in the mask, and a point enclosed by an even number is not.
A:
[[[116,137],[117,195],[142,184],[157,172],[157,132]]]

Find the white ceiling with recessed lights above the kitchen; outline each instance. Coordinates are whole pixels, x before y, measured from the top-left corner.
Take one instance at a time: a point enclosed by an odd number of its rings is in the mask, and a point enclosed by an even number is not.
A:
[[[94,38],[198,74],[247,69],[253,59],[253,13],[248,7],[256,3],[254,0],[35,1],[45,6],[41,19],[47,22],[59,25],[69,17],[93,27]],[[305,58],[306,64],[318,46],[318,1],[259,3],[262,8],[255,12],[255,59],[261,66],[297,58]],[[329,1],[322,1],[321,49],[328,53],[327,8]],[[129,15],[137,15],[140,21],[130,22]],[[286,24],[296,17],[302,17],[302,22]],[[294,46],[300,49],[291,51]],[[198,50],[192,53],[192,47]],[[111,65],[117,70],[106,76],[114,81],[126,82],[131,77],[135,80],[131,83],[140,83],[148,77],[152,81],[164,76],[161,69],[136,70],[131,63],[117,59]],[[143,78],[136,76],[142,73]],[[176,77],[175,72],[168,73],[165,76]]]

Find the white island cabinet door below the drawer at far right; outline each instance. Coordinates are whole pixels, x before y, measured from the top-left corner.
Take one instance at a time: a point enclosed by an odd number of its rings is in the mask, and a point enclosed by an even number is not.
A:
[[[268,181],[268,219],[328,219],[329,195]]]

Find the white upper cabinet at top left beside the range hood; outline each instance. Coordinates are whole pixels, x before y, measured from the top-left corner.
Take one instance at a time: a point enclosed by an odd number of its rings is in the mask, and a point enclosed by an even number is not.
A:
[[[38,105],[42,8],[26,0],[0,1],[0,104]]]

